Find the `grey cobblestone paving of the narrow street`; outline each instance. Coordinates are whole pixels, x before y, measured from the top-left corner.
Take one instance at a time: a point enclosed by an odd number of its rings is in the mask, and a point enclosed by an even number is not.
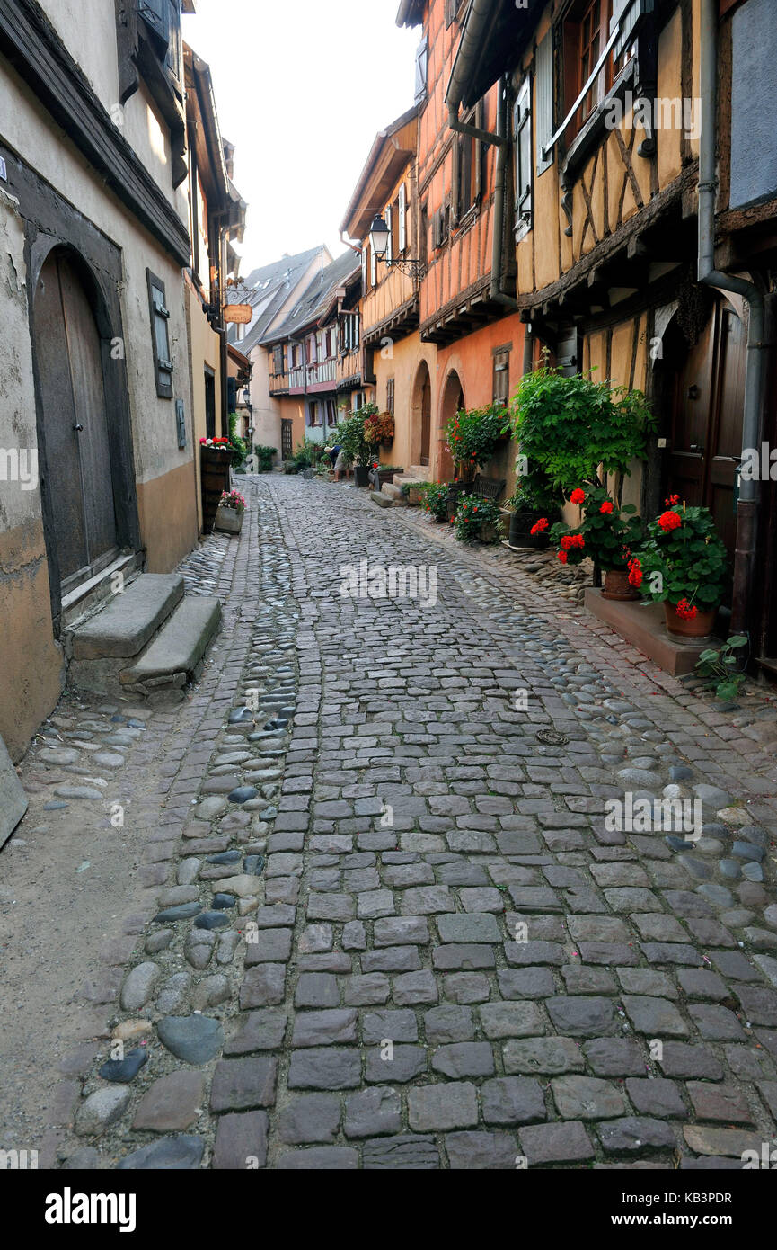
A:
[[[200,685],[121,712],[137,740],[100,798],[146,839],[150,901],[104,952],[51,1165],[740,1168],[773,1148],[771,751],[416,515],[247,485],[241,539],[184,568],[225,604]],[[435,565],[436,604],[341,595],[361,560]],[[607,831],[626,790],[701,799],[701,841]]]

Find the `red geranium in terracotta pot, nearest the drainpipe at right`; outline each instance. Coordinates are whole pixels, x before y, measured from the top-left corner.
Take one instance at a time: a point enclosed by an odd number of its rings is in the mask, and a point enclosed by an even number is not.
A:
[[[678,495],[665,502],[638,556],[640,590],[663,604],[670,634],[708,638],[728,585],[728,554],[708,508],[681,506]]]

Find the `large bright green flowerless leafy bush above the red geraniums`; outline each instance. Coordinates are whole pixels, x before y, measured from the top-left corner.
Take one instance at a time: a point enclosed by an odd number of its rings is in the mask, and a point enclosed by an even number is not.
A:
[[[522,456],[565,494],[580,482],[603,486],[608,472],[628,475],[657,426],[641,391],[547,364],[523,375],[512,412]]]

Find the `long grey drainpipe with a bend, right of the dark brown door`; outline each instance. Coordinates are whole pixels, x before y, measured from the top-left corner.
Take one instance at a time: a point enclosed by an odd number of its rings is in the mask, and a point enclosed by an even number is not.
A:
[[[715,211],[717,196],[717,66],[718,66],[718,2],[702,0],[701,8],[701,98],[702,128],[698,161],[698,281],[743,296],[750,309],[747,334],[747,372],[745,380],[745,411],[742,450],[757,448],[761,434],[761,402],[766,368],[765,300],[755,282],[732,278],[715,268]],[[740,486],[737,509],[737,545],[733,572],[733,605],[731,626],[742,631],[748,624],[748,592],[756,559],[757,499],[756,482],[750,479]]]

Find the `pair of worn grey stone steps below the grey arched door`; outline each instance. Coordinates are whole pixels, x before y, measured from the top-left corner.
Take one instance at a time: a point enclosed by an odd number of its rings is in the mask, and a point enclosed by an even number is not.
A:
[[[157,704],[180,700],[221,624],[221,604],[185,595],[180,574],[139,574],[120,594],[65,624],[71,685]]]

